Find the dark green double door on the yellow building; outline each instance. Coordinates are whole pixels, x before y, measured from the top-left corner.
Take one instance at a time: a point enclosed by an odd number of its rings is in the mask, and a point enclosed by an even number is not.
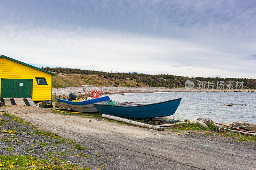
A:
[[[1,100],[3,98],[32,98],[32,80],[1,79]]]

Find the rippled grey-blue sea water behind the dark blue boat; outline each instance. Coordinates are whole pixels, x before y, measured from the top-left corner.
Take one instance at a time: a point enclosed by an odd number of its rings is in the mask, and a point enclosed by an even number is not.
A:
[[[209,117],[217,123],[238,121],[256,124],[255,92],[157,92],[108,96],[116,102],[133,101],[142,104],[182,98],[180,106],[171,117],[190,120]]]

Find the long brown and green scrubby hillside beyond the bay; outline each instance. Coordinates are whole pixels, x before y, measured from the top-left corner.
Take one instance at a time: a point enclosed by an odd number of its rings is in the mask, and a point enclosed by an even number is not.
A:
[[[244,81],[245,89],[256,89],[256,79],[244,78],[212,78],[212,77],[186,77],[170,74],[131,74],[131,73],[107,73],[94,70],[81,70],[76,68],[50,68],[42,69],[56,73],[53,77],[53,87],[74,87],[82,85],[96,86],[130,86],[130,87],[185,87],[185,81],[190,80],[197,85],[196,80],[210,81]],[[207,87],[207,84],[206,84]],[[216,84],[215,84],[216,88]]]

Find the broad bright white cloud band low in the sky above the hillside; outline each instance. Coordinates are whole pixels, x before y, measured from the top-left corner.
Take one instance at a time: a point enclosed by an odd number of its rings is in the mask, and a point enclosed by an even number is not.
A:
[[[51,65],[58,67],[185,76],[229,71],[249,76],[245,73],[255,72],[254,67],[248,67],[237,54],[221,53],[177,39],[104,30],[27,30],[19,26],[4,27],[0,30],[0,39],[2,54],[38,66],[51,61]],[[193,72],[188,74],[184,69],[193,69]]]

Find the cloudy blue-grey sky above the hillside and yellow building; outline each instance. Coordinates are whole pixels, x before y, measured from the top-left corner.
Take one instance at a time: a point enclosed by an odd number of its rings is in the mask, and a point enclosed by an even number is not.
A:
[[[0,0],[0,55],[34,66],[256,78],[256,1]]]

